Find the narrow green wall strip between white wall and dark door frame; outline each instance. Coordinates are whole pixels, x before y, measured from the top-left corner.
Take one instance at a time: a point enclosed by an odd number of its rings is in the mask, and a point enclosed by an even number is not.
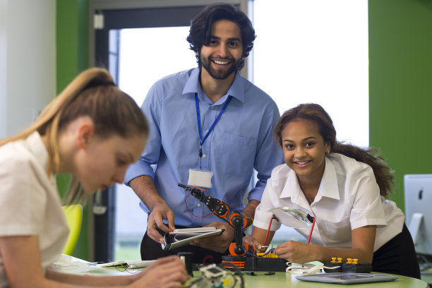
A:
[[[57,94],[78,73],[88,68],[88,0],[56,1],[56,76]],[[61,195],[67,190],[70,176],[57,176]],[[88,208],[83,211],[78,244],[73,256],[90,259],[88,250]]]

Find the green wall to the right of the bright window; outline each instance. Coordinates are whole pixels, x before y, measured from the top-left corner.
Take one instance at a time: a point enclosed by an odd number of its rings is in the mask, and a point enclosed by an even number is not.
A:
[[[395,171],[432,174],[432,1],[369,0],[369,137]]]

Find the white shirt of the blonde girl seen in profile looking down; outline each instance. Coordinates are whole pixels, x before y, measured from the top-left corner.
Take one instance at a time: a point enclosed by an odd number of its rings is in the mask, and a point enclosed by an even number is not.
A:
[[[0,237],[38,236],[44,272],[59,258],[69,233],[47,159],[37,132],[0,146]],[[0,287],[8,287],[1,253]]]

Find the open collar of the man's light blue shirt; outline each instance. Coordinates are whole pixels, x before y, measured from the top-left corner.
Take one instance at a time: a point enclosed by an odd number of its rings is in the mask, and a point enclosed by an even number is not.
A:
[[[191,76],[189,76],[188,80],[186,81],[186,85],[184,85],[183,88],[183,95],[192,93],[192,95],[195,95],[195,93],[200,93],[203,91],[200,86],[200,68],[195,68],[191,72]],[[240,100],[241,102],[244,102],[244,85],[243,85],[244,78],[240,75],[239,71],[236,71],[236,76],[234,77],[234,82],[232,83],[231,87],[229,87],[227,95],[231,95],[232,97]],[[225,95],[222,98],[227,98],[227,95]],[[221,99],[222,99],[221,98]]]

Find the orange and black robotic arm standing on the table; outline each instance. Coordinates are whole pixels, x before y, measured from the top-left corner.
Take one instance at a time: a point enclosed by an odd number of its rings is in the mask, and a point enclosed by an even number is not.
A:
[[[184,188],[186,191],[190,191],[191,195],[200,202],[207,205],[208,209],[213,212],[217,217],[220,217],[222,220],[227,222],[230,226],[234,227],[234,241],[229,246],[229,253],[232,256],[241,256],[245,254],[243,248],[243,229],[248,227],[248,222],[245,220],[244,216],[241,212],[237,212],[229,208],[229,206],[221,200],[216,198],[212,198],[210,196],[205,195],[205,191],[198,187],[186,186],[184,184],[178,184],[181,188]],[[246,250],[248,249],[247,244],[245,244]]]

